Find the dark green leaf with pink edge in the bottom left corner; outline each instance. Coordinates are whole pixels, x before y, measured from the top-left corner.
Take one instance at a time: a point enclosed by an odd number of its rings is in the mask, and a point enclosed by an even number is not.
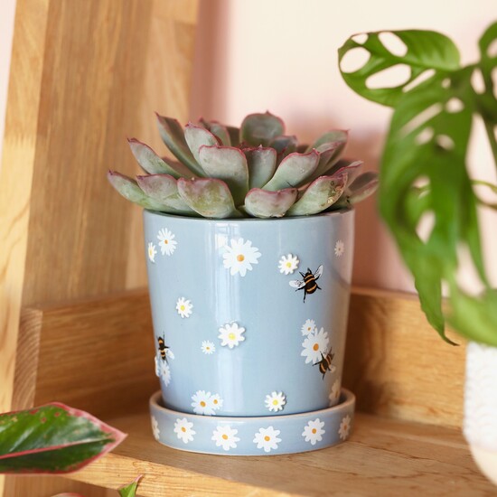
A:
[[[0,473],[71,473],[125,437],[96,417],[57,402],[1,414]]]

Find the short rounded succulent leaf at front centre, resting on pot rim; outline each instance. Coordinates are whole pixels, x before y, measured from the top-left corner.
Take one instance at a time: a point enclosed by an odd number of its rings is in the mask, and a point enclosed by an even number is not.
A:
[[[281,218],[294,204],[296,196],[296,188],[277,192],[253,188],[245,198],[245,210],[256,218]]]

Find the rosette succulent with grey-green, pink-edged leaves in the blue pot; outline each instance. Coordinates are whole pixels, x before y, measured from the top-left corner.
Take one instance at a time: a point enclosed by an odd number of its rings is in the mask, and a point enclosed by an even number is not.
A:
[[[177,158],[160,157],[135,138],[129,145],[145,175],[108,172],[127,200],[145,209],[205,218],[305,216],[350,206],[376,190],[376,173],[340,160],[348,132],[334,129],[313,145],[285,135],[270,113],[250,114],[241,127],[201,119],[181,127],[157,115],[162,139]]]

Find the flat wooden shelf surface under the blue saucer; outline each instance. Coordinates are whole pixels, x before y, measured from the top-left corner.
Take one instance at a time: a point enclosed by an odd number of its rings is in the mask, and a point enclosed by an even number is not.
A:
[[[297,455],[200,455],[155,442],[147,412],[109,420],[127,440],[71,479],[157,495],[495,495],[459,430],[357,414],[350,440]]]

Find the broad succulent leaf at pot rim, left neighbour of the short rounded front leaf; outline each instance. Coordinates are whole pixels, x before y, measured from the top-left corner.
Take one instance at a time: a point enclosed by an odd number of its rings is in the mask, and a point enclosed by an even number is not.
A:
[[[204,218],[239,218],[227,184],[215,178],[178,180],[178,192],[184,202]]]

